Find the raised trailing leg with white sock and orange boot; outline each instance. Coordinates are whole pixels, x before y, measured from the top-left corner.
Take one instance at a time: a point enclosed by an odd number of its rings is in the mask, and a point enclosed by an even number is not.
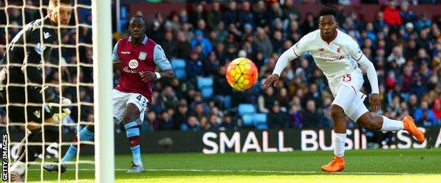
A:
[[[413,119],[408,116],[399,120],[391,120],[382,115],[372,115],[371,113],[364,113],[357,120],[358,124],[367,130],[382,130],[382,131],[398,131],[406,130],[418,141],[425,141],[423,132],[416,127]]]

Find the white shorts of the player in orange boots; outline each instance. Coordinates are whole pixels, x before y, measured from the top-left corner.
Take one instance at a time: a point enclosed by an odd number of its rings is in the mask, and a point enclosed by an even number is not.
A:
[[[351,118],[351,120],[353,120],[354,122],[357,122],[358,118],[360,118],[361,115],[369,112],[365,104],[363,103],[363,101],[365,101],[366,95],[360,92],[363,82],[363,74],[359,68],[356,68],[355,70],[353,70],[353,72],[341,77],[341,80],[339,82],[336,82],[335,84],[329,84],[331,92],[335,98],[332,104],[341,106],[346,115],[348,115],[349,118]],[[353,94],[355,94],[355,97],[338,98],[336,97],[336,95],[339,93],[339,89],[349,89],[351,90],[351,92],[353,92]]]

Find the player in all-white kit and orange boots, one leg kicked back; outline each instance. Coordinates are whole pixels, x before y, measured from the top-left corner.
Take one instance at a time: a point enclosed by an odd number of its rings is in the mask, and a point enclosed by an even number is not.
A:
[[[367,72],[367,78],[372,87],[370,104],[374,111],[380,109],[380,96],[377,72],[374,65],[348,34],[337,30],[337,12],[334,8],[323,8],[319,12],[319,30],[306,34],[298,43],[285,51],[276,63],[273,74],[264,82],[269,87],[278,81],[279,76],[289,61],[298,58],[309,51],[315,63],[324,72],[329,81],[329,87],[334,95],[331,106],[331,116],[334,121],[334,159],[322,166],[325,172],[340,172],[345,167],[343,154],[346,141],[346,123],[344,114],[367,130],[397,131],[407,130],[420,142],[425,140],[411,117],[403,121],[392,120],[382,115],[372,115],[363,104],[365,94],[360,92],[363,84],[363,74],[358,68],[360,64]]]

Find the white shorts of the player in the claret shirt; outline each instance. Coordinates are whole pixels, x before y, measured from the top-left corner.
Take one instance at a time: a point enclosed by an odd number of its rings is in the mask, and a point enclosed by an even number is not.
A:
[[[122,113],[129,103],[133,103],[139,109],[139,118],[136,124],[141,125],[144,120],[144,112],[147,108],[148,99],[141,94],[120,92],[117,89],[112,91],[113,118],[115,122],[122,122]]]

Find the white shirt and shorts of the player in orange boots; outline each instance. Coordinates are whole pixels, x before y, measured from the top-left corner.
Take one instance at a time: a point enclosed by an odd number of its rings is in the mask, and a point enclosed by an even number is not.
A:
[[[279,58],[279,61],[282,63],[280,66],[276,65],[273,74],[280,75],[287,65],[283,63],[284,61],[298,58],[305,51],[310,52],[317,66],[327,77],[329,87],[335,98],[333,104],[341,106],[346,115],[351,120],[357,122],[361,115],[368,112],[363,103],[366,95],[360,92],[364,80],[363,73],[358,68],[358,63],[369,71],[368,77],[371,82],[372,93],[378,94],[375,68],[363,55],[357,42],[340,30],[337,30],[334,40],[325,42],[320,36],[320,30],[315,30],[306,34],[299,42],[282,54],[281,58]],[[371,80],[373,77],[375,79]],[[353,93],[348,94],[347,90],[351,90]],[[338,96],[343,94],[345,95]]]

